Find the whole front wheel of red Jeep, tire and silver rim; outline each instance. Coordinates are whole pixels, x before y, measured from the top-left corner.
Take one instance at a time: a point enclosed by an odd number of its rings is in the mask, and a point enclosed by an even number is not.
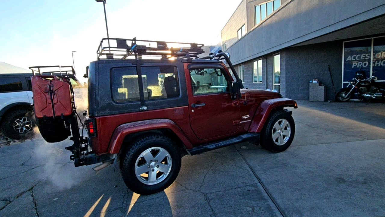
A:
[[[294,119],[289,112],[272,110],[261,131],[259,144],[271,152],[288,149],[295,134]]]

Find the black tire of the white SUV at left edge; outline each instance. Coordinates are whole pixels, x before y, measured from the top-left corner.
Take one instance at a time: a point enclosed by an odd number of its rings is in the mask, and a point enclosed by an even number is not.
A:
[[[17,123],[20,124],[20,120],[22,120],[25,125],[19,130],[16,130],[14,127],[17,127]],[[33,136],[34,126],[35,115],[33,111],[23,108],[7,112],[2,118],[0,129],[5,136],[11,139],[25,139]]]

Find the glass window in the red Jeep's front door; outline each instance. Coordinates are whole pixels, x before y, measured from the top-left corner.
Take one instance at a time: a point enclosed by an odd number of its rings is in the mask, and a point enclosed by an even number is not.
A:
[[[190,70],[192,93],[219,93],[228,91],[227,80],[220,69],[206,68]]]

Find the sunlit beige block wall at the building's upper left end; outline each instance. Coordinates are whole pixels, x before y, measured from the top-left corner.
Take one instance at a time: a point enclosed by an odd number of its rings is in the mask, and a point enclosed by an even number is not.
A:
[[[243,24],[246,24],[246,0],[242,0],[229,21],[224,25],[221,31],[222,45],[227,43],[227,47],[238,41],[237,31]],[[248,31],[246,25],[246,32]]]

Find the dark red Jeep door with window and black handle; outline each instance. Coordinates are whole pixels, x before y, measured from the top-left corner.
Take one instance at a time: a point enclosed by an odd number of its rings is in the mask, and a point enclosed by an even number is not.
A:
[[[199,139],[230,135],[239,128],[238,101],[221,64],[185,63],[190,125]]]

